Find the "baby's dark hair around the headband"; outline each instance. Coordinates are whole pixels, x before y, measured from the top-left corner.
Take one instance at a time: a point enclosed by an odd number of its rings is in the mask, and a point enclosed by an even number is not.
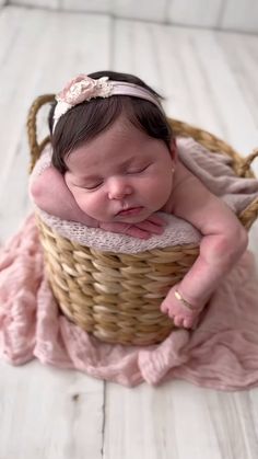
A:
[[[109,77],[114,81],[126,81],[145,88],[156,97],[160,95],[139,78],[115,71],[98,71],[89,77],[98,79]],[[172,128],[165,114],[152,102],[130,95],[113,95],[110,97],[96,97],[73,106],[60,117],[52,133],[54,111],[56,102],[49,113],[49,128],[52,145],[52,165],[62,174],[68,170],[66,157],[75,148],[93,139],[107,129],[120,114],[150,137],[161,139],[171,148],[173,137]]]

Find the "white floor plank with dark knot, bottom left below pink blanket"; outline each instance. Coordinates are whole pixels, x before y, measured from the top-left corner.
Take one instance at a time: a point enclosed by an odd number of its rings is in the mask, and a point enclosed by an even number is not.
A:
[[[0,371],[1,459],[102,458],[102,381],[36,362]]]

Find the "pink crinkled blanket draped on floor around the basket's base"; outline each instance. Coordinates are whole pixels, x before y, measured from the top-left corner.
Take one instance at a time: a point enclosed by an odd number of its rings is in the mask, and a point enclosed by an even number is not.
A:
[[[174,331],[149,347],[109,345],[59,312],[31,216],[0,253],[0,355],[13,365],[38,358],[125,386],[175,378],[223,390],[258,386],[254,257],[244,254],[211,298],[197,330]]]

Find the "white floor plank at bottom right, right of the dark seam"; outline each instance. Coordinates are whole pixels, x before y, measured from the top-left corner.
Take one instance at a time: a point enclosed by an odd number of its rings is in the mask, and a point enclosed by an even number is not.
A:
[[[248,399],[181,381],[133,390],[109,385],[105,458],[255,459],[258,437]]]

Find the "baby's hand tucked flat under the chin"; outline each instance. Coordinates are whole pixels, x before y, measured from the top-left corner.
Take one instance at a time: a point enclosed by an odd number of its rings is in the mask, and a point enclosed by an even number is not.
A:
[[[166,222],[156,215],[151,215],[146,220],[139,223],[120,223],[120,222],[99,222],[99,228],[119,232],[121,234],[132,236],[139,239],[149,239],[152,234],[162,234]]]

